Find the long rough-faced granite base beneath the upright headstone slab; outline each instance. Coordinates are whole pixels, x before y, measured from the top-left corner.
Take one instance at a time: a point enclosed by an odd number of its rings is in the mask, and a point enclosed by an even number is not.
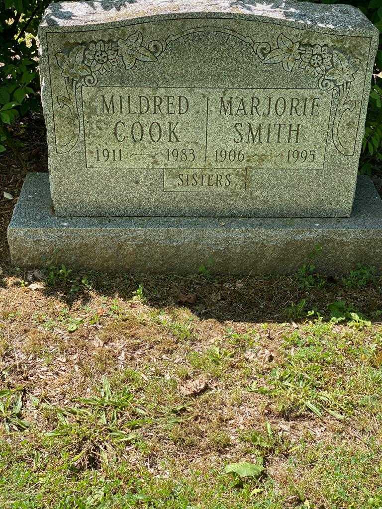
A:
[[[317,269],[382,269],[382,202],[359,177],[349,218],[57,217],[47,174],[29,174],[8,228],[12,262],[108,271],[290,273],[322,251]]]

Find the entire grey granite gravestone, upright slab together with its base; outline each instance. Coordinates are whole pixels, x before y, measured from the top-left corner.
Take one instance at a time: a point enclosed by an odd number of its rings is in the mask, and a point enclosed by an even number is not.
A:
[[[358,9],[62,2],[39,44],[49,177],[25,181],[15,264],[377,263],[382,205],[356,184],[378,31]]]

